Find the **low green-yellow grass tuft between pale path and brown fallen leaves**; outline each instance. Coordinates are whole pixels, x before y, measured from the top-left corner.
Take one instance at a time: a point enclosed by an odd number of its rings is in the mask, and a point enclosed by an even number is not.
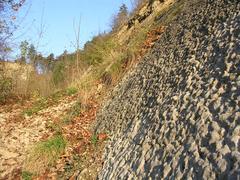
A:
[[[25,163],[24,169],[29,172],[42,173],[58,160],[66,148],[66,140],[62,135],[37,143]]]

